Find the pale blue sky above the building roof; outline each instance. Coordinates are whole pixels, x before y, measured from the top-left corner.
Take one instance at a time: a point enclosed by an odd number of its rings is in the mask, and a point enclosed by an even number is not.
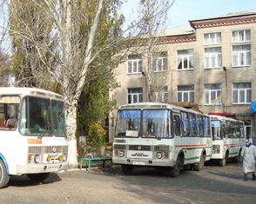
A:
[[[170,0],[171,2],[171,0]],[[138,0],[128,0],[123,12],[135,10]],[[166,28],[189,24],[189,20],[209,18],[246,10],[256,10],[255,0],[175,0],[169,10]]]

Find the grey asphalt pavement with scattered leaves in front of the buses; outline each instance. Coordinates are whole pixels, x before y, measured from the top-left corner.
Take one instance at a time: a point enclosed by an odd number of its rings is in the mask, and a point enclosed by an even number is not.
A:
[[[12,203],[255,203],[256,181],[243,181],[242,165],[206,165],[200,172],[181,171],[167,177],[163,170],[135,168],[122,174],[119,166],[71,169],[51,173],[44,182],[30,181],[26,175],[12,176],[0,189],[0,201]]]

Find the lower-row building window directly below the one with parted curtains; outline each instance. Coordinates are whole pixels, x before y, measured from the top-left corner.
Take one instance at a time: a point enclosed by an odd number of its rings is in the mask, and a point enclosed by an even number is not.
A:
[[[178,102],[194,102],[194,85],[178,86]]]

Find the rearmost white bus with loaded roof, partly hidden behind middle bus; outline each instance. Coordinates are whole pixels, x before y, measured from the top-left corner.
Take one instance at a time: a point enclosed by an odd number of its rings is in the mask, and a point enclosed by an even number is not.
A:
[[[246,145],[244,122],[231,113],[209,113],[212,123],[212,161],[225,166],[226,161],[239,162]]]

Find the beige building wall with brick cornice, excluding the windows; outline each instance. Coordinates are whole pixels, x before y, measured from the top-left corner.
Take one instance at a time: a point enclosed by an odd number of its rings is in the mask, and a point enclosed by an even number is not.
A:
[[[199,20],[192,22],[194,29],[192,33],[185,35],[164,36],[159,38],[154,45],[158,51],[166,51],[168,57],[167,71],[154,73],[152,82],[154,85],[168,87],[168,101],[178,101],[178,85],[194,85],[194,102],[199,104],[205,113],[209,112],[231,112],[246,122],[251,122],[252,128],[247,128],[247,137],[253,137],[255,129],[255,115],[252,114],[251,104],[232,103],[232,83],[251,82],[252,102],[256,101],[256,14],[250,16],[228,16],[213,20]],[[232,67],[232,31],[251,30],[251,66]],[[221,33],[221,44],[204,45],[204,34]],[[221,47],[222,67],[204,69],[204,49],[207,47]],[[194,50],[194,69],[178,70],[177,51],[182,49]],[[147,59],[143,58],[143,69],[146,69]],[[226,68],[226,70],[223,69]],[[111,95],[117,98],[118,106],[128,103],[128,88],[142,88],[144,100],[146,99],[146,77],[141,73],[127,74],[127,62],[119,64],[115,70],[117,81],[121,87],[111,91]],[[222,104],[205,105],[204,87],[206,83],[221,83]],[[110,115],[110,141],[113,139],[117,110]]]

